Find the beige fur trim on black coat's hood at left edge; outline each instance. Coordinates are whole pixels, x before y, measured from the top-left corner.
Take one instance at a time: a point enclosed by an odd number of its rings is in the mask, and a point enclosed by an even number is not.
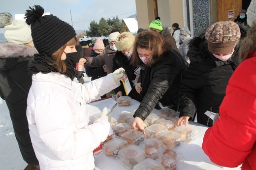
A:
[[[0,58],[8,57],[33,57],[38,52],[26,45],[4,42],[0,43]]]

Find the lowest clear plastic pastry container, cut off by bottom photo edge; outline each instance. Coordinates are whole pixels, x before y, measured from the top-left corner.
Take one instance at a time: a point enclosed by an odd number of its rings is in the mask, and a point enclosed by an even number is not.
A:
[[[147,158],[133,167],[133,170],[165,170],[157,161]]]

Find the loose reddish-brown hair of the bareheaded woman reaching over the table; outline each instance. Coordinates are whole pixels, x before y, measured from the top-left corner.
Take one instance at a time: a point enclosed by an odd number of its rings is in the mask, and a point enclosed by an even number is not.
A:
[[[153,51],[153,57],[150,57],[148,62],[149,66],[156,63],[162,57],[161,54],[163,52],[170,50],[170,46],[168,46],[168,43],[165,42],[160,33],[145,29],[137,34],[133,44],[134,51],[131,57],[131,64],[138,67],[142,61],[139,58],[137,48]]]

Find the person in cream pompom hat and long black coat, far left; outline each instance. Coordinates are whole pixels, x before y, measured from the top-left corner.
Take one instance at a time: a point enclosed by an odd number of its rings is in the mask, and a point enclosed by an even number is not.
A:
[[[0,13],[0,21],[7,40],[0,43],[0,97],[9,109],[21,155],[29,164],[26,169],[36,170],[38,160],[30,139],[26,110],[32,84],[28,63],[37,51],[32,48],[31,29],[24,21],[12,21],[12,15],[7,12]]]

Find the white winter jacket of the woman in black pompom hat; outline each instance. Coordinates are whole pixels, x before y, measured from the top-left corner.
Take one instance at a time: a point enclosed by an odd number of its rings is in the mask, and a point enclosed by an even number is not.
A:
[[[94,169],[93,150],[113,131],[103,117],[88,126],[86,103],[119,85],[112,74],[84,85],[60,73],[32,75],[27,117],[41,170]]]

